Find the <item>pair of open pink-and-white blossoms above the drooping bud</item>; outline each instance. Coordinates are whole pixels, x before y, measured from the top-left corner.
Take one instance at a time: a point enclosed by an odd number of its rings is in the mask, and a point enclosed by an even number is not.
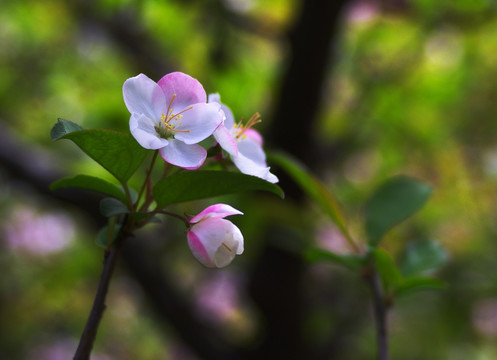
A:
[[[244,174],[278,182],[266,164],[262,136],[247,123],[235,123],[218,94],[208,97],[199,81],[181,72],[158,83],[140,74],[126,80],[124,102],[131,118],[131,134],[146,149],[158,150],[168,163],[189,170],[201,167],[207,151],[199,143],[211,135]]]

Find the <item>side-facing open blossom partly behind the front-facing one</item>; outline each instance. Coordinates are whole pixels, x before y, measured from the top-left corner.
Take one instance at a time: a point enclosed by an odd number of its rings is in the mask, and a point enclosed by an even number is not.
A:
[[[252,128],[261,122],[259,114],[256,113],[245,124],[241,121],[235,123],[233,113],[221,103],[219,94],[209,95],[209,104],[212,103],[221,104],[226,116],[224,123],[214,131],[214,138],[230,155],[236,167],[244,174],[277,183],[278,178],[269,171],[266,163],[262,136]]]

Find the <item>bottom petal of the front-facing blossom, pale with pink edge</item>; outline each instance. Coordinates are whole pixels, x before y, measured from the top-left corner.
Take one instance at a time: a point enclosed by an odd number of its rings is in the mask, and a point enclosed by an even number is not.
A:
[[[201,167],[207,157],[207,151],[202,146],[185,144],[176,139],[169,139],[169,144],[160,149],[159,154],[169,164],[188,170]]]

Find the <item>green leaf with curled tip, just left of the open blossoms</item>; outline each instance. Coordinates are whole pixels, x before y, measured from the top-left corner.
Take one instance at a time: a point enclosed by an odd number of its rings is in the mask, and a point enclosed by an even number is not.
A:
[[[72,140],[122,183],[128,181],[148,154],[128,134],[112,130],[84,130],[61,119],[52,128],[52,138]]]

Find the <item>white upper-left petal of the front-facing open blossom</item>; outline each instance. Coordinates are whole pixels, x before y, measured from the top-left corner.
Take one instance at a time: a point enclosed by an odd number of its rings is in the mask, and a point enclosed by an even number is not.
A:
[[[166,112],[166,97],[159,85],[144,74],[129,78],[123,85],[124,103],[130,113],[160,119]]]

